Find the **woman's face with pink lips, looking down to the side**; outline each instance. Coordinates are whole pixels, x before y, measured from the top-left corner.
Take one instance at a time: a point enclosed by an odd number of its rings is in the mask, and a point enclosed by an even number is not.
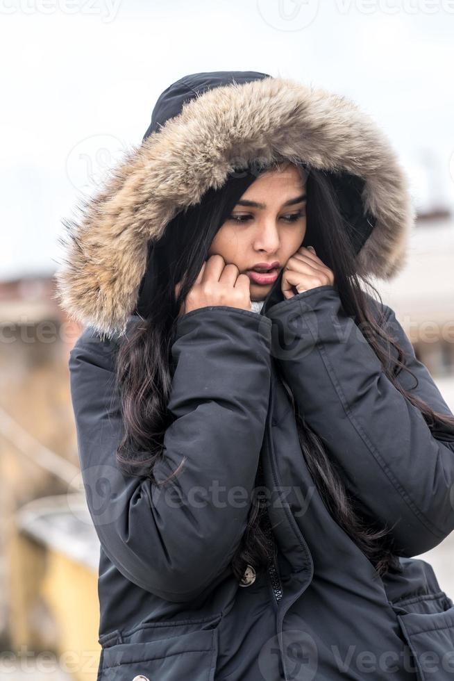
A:
[[[260,174],[212,240],[208,256],[221,255],[250,279],[251,300],[264,300],[306,231],[305,179],[295,165]],[[253,268],[273,265],[269,274]]]

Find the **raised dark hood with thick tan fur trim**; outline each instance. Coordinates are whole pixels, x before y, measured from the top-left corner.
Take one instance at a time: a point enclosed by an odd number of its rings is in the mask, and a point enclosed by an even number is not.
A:
[[[414,208],[398,158],[367,113],[294,79],[191,74],[162,92],[142,143],[83,199],[80,219],[63,221],[54,296],[60,306],[103,335],[124,334],[149,244],[176,213],[257,158],[335,173],[358,242],[358,273],[391,279],[401,271]]]

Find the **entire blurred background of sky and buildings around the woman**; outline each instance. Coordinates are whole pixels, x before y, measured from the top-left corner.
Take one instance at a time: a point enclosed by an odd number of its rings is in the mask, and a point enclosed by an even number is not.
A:
[[[186,74],[255,70],[355,100],[410,178],[405,270],[377,281],[454,411],[454,3],[0,0],[0,679],[94,681],[99,544],[52,299],[63,218]],[[375,282],[374,282],[375,283]],[[422,556],[454,598],[454,535]]]

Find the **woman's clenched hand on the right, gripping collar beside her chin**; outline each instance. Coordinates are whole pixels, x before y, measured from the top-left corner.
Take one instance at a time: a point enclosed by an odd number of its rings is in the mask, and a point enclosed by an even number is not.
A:
[[[319,259],[312,246],[301,246],[288,259],[280,288],[285,298],[292,298],[297,293],[317,286],[334,286],[333,271]],[[296,288],[297,293],[294,293],[293,288]]]

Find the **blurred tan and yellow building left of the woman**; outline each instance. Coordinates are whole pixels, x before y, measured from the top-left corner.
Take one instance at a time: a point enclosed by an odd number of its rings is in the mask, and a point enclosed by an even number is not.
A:
[[[83,498],[67,369],[81,329],[67,320],[52,293],[52,277],[0,282],[0,647],[17,658],[14,678],[22,678],[30,653],[46,651],[58,659],[73,650],[80,657],[84,636],[85,648],[87,640],[87,649],[99,647],[96,570],[93,560],[87,566],[75,555],[77,545],[89,546],[87,525],[83,532],[81,521],[67,524],[66,532],[60,529],[65,545],[56,545],[58,525],[74,511],[32,514],[29,506],[42,506],[42,498],[47,507],[49,500],[65,502],[70,492]],[[85,612],[76,604],[85,605]],[[69,637],[70,623],[78,637]],[[82,668],[71,678],[96,678],[93,672],[84,676]],[[58,666],[54,671],[49,679],[62,678]]]

